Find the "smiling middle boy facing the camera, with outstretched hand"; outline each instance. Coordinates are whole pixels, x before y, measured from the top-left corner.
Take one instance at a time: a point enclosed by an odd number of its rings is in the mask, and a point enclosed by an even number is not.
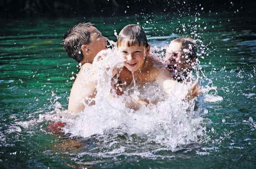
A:
[[[150,45],[140,26],[125,26],[118,35],[117,46],[119,53],[126,59],[119,75],[120,82],[126,82],[128,85],[133,79],[140,84],[156,82],[168,94],[174,92],[175,80],[167,69],[147,57]],[[197,82],[192,85],[188,92],[188,100],[201,93],[201,87],[196,87],[196,85]]]

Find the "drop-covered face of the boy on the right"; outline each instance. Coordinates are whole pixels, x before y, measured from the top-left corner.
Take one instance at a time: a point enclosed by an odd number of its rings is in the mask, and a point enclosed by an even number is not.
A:
[[[165,56],[167,68],[171,73],[186,73],[191,70],[191,64],[196,59],[189,58],[190,51],[184,49],[181,44],[171,42]]]

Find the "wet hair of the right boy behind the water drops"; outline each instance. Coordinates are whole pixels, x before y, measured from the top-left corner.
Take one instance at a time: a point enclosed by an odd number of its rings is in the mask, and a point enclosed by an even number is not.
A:
[[[190,55],[188,56],[190,59],[197,58],[197,45],[196,41],[189,37],[180,37],[174,39],[171,43],[178,43],[180,44],[184,49],[188,49],[190,51]]]

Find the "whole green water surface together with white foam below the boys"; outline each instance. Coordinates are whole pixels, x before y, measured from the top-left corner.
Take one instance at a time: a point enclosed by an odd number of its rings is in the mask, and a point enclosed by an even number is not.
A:
[[[1,167],[253,168],[254,14],[235,10],[182,17],[1,19]],[[68,117],[67,97],[72,72],[78,72],[78,67],[60,45],[65,31],[78,22],[92,21],[104,36],[115,41],[114,30],[119,32],[134,20],[144,26],[152,47],[160,48],[181,35],[199,40],[200,51],[204,52],[199,56],[201,71],[196,77],[204,94],[196,102],[196,111],[185,114],[182,110],[167,110],[175,107],[175,102],[167,100],[165,103],[170,104],[159,105],[159,114],[154,113],[154,107],[132,113],[122,104],[109,102],[105,110],[91,108],[103,113]],[[113,109],[116,111],[110,112]],[[107,120],[99,123],[97,120],[107,113]],[[179,113],[177,118],[173,118],[175,113]],[[77,116],[80,118],[75,120]],[[68,123],[66,134],[47,128],[60,119]],[[81,123],[76,123],[79,120]],[[179,120],[180,126],[172,128]],[[79,126],[85,122],[93,127]]]

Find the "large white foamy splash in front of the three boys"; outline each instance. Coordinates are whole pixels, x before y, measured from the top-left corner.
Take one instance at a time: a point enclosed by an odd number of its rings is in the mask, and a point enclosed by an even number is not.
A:
[[[157,52],[159,50],[155,49],[152,53],[158,55]],[[95,57],[93,65],[101,64],[97,95],[93,99],[96,104],[86,106],[77,118],[68,118],[67,115],[63,118],[62,115],[62,121],[67,123],[65,133],[82,137],[106,136],[107,141],[111,142],[112,138],[108,136],[110,131],[113,135],[122,131],[125,135],[136,135],[146,142],[156,142],[171,148],[197,141],[204,131],[200,125],[202,118],[193,118],[193,103],[177,99],[185,97],[188,90],[186,85],[177,84],[177,92],[168,97],[154,82],[136,84],[134,80],[123,96],[110,95],[115,90],[113,83],[116,82],[116,79],[112,79],[112,72],[116,67],[121,69],[123,61],[115,46]],[[128,97],[140,97],[151,102],[135,111],[127,107]]]

